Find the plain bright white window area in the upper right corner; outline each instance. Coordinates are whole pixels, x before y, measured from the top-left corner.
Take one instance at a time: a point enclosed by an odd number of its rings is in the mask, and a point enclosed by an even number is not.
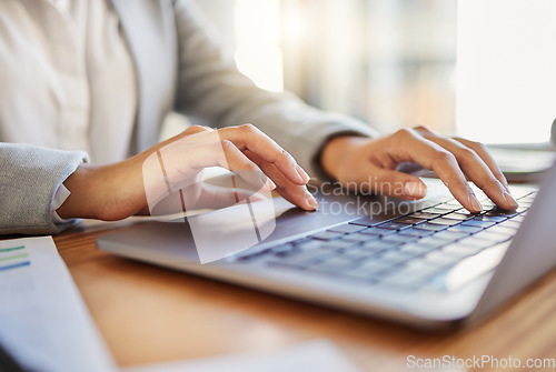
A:
[[[556,118],[556,1],[458,1],[456,125],[487,143],[549,139]]]

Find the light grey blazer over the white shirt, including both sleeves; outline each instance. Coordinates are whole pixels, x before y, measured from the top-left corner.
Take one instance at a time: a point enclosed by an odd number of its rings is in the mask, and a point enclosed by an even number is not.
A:
[[[316,158],[327,139],[342,133],[376,135],[355,119],[256,88],[222,56],[191,1],[112,0],[112,4],[137,73],[136,152],[156,143],[170,111],[214,128],[254,123],[317,177],[322,174]],[[0,143],[0,233],[60,232],[66,225],[52,222],[52,198],[83,157]]]

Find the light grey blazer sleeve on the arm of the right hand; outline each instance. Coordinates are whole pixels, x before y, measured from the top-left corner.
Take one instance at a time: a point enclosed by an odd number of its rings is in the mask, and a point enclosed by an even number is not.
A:
[[[192,1],[173,2],[178,32],[179,81],[176,110],[210,127],[252,123],[288,150],[312,177],[325,178],[318,163],[332,137],[377,137],[370,125],[311,108],[288,93],[257,88],[222,56]]]

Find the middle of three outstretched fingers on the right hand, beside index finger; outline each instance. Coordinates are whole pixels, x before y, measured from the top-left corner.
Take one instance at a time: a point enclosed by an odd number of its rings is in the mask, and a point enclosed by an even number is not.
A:
[[[450,151],[456,157],[464,173],[498,207],[507,210],[517,208],[517,202],[507,192],[504,184],[473,149],[449,138],[435,137],[430,141]]]

